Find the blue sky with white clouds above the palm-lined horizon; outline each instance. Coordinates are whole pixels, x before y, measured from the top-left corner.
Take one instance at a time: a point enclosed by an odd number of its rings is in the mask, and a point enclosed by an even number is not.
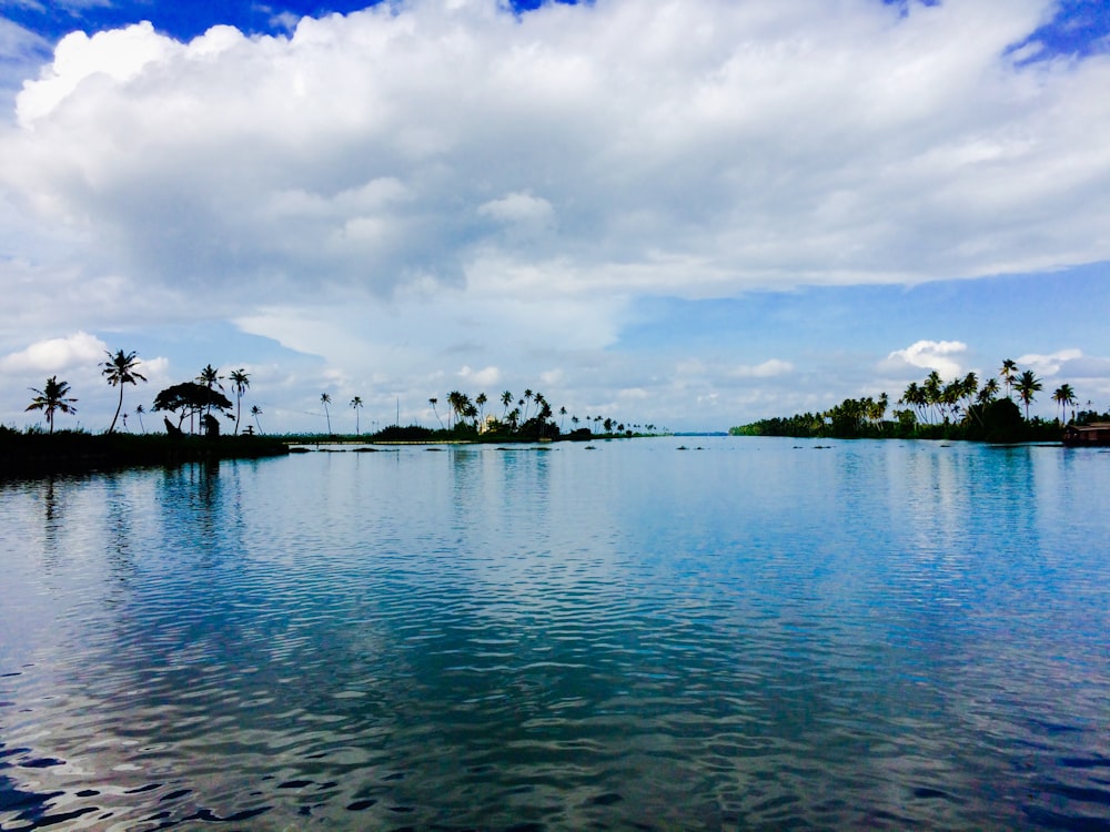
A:
[[[0,424],[245,369],[722,430],[996,375],[1110,408],[1106,0],[0,0]],[[443,406],[440,407],[441,415]],[[147,427],[157,423],[149,416]]]

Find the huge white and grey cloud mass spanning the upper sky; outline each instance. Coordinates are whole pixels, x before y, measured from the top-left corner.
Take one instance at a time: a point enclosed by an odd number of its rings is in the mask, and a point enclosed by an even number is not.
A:
[[[236,303],[491,257],[582,295],[1058,267],[1110,256],[1110,55],[1016,63],[1050,10],[417,0],[75,33],[0,181],[113,271]]]

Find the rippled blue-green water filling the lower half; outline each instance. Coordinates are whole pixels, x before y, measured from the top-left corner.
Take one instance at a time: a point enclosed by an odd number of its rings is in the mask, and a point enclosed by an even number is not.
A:
[[[0,486],[0,829],[1110,829],[1110,454],[796,444]]]

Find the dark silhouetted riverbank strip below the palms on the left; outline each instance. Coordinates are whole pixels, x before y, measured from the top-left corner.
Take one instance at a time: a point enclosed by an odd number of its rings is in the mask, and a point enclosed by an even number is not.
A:
[[[0,479],[46,474],[284,456],[289,446],[262,436],[20,433],[0,428]]]

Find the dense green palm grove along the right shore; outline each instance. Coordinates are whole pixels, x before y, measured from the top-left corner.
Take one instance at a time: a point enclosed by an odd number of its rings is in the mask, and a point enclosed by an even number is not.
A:
[[[902,438],[902,439],[969,439],[978,442],[1056,442],[1061,437],[1067,407],[1072,408],[1074,424],[1110,418],[1093,410],[1076,413],[1076,394],[1071,385],[1061,385],[1052,399],[1060,407],[1060,417],[1046,422],[1029,418],[1029,405],[1043,389],[1043,383],[1031,369],[1018,372],[1018,365],[1006,359],[999,369],[1006,396],[998,397],[998,379],[979,383],[975,373],[945,382],[934,371],[920,384],[906,387],[899,405],[887,418],[889,398],[846,398],[821,413],[805,413],[781,418],[760,419],[734,427],[734,436],[793,436],[813,438]],[[1016,393],[1025,406],[1022,416],[1011,398]]]

